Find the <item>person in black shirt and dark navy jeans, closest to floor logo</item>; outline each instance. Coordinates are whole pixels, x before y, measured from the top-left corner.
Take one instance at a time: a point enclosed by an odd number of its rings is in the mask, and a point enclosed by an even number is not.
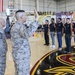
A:
[[[72,26],[70,23],[70,18],[66,19],[64,28],[65,28],[66,50],[67,50],[67,53],[70,53],[71,52],[71,37],[72,37]]]

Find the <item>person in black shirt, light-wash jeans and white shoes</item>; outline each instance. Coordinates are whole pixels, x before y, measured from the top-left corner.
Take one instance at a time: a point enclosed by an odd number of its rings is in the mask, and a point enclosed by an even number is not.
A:
[[[54,18],[51,18],[51,24],[49,25],[49,29],[50,29],[51,39],[52,39],[52,45],[50,47],[55,48],[55,20]]]

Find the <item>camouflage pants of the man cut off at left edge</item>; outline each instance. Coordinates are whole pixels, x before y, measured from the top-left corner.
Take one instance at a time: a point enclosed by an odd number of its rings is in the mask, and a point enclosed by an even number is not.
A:
[[[6,68],[6,53],[0,53],[0,75],[4,75]]]

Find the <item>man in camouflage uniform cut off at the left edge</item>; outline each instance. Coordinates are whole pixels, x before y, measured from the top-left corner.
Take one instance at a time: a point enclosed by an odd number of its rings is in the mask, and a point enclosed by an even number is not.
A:
[[[0,75],[4,75],[6,68],[6,53],[7,53],[7,43],[3,27],[5,26],[5,21],[0,18]]]

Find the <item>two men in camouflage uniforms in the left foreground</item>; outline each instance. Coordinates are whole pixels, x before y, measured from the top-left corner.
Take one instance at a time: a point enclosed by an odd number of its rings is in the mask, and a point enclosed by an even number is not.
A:
[[[27,24],[25,24],[27,16],[24,10],[16,11],[15,17],[17,22],[11,27],[10,30],[15,75],[30,75],[31,52],[28,38],[33,36],[34,32],[40,25],[38,22],[38,13],[36,10],[34,10],[35,21],[32,22],[29,27],[27,27]],[[6,54],[8,51],[3,30],[5,26],[5,20],[0,18],[0,75],[5,74]]]

